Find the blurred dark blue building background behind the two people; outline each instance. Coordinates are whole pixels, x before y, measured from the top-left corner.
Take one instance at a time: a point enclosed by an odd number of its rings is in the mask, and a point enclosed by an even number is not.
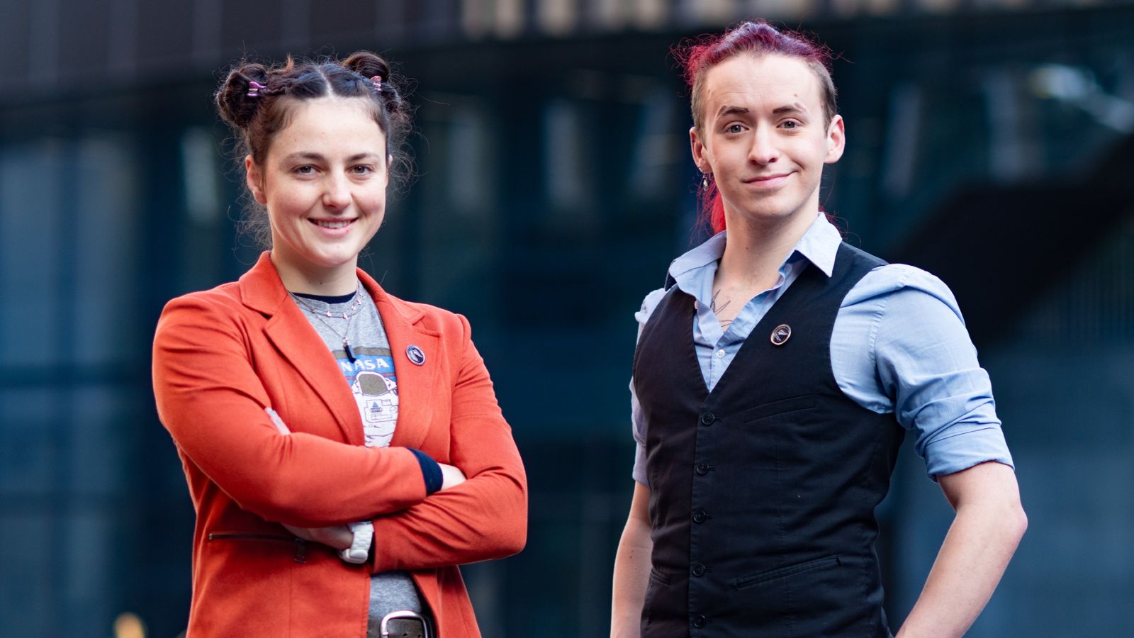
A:
[[[824,205],[953,287],[992,376],[1031,527],[970,636],[1134,635],[1117,0],[0,1],[0,635],[184,630],[193,510],[150,343],[256,257],[211,94],[245,53],[367,48],[417,83],[420,176],[362,265],[468,316],[527,464],[527,549],[465,569],[485,636],[604,636],[633,313],[703,237],[668,52],[745,17],[836,52]],[[897,627],[951,520],[912,450],[879,515]]]

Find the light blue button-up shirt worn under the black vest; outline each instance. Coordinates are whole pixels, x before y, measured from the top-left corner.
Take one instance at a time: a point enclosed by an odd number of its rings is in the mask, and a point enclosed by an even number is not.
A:
[[[779,280],[748,301],[727,329],[712,311],[712,284],[727,232],[674,260],[669,274],[694,297],[693,343],[712,391],[744,339],[807,265],[828,277],[843,238],[820,213],[779,268]],[[666,294],[646,295],[635,314],[638,335]],[[894,413],[914,433],[914,450],[930,478],[984,461],[1012,465],[988,372],[976,361],[957,300],[940,279],[891,263],[866,274],[843,300],[831,333],[831,368],[848,397],[877,413]],[[631,381],[637,455],[634,479],[645,478],[646,423]]]

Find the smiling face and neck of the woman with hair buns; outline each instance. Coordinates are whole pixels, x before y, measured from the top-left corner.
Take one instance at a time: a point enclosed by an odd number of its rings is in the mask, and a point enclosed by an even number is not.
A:
[[[386,215],[386,135],[362,98],[296,101],[289,116],[263,165],[245,160],[268,208],[272,263],[289,291],[349,294]]]

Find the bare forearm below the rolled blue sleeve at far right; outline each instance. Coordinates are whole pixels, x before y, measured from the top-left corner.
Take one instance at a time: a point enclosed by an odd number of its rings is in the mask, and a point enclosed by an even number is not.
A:
[[[1010,472],[1002,465],[1000,469]],[[1009,494],[990,496],[958,504],[898,638],[964,636],[984,608],[1027,527],[1014,478]]]

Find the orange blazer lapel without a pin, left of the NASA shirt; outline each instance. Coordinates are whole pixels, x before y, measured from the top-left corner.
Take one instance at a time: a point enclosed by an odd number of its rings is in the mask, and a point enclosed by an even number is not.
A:
[[[288,295],[268,252],[240,277],[240,292],[245,304],[270,317],[264,334],[327,405],[342,440],[363,445],[358,404],[319,333]]]

